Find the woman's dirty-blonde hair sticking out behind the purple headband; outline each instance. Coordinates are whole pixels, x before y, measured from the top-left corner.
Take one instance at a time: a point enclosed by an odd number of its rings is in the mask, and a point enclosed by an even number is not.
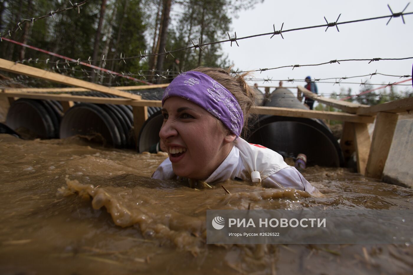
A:
[[[199,71],[205,73],[210,78],[214,79],[223,85],[235,97],[240,104],[242,114],[244,115],[244,126],[242,128],[243,137],[248,132],[248,121],[252,118],[251,108],[255,107],[255,92],[245,81],[245,77],[251,73],[242,73],[240,75],[231,76],[231,67],[228,69],[214,68],[214,67],[198,67],[191,71]],[[225,127],[220,121],[220,125]],[[225,130],[229,131],[225,127]]]

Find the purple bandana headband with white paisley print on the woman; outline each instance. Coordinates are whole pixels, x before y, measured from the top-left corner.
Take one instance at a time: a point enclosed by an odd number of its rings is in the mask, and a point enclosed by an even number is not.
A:
[[[240,104],[230,91],[206,74],[198,71],[181,73],[165,89],[162,106],[169,97],[194,102],[222,121],[237,137],[240,135],[244,124]]]

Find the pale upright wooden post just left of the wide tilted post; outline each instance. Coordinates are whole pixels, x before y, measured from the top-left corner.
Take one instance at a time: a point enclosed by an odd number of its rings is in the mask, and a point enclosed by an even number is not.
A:
[[[366,123],[353,123],[356,146],[357,172],[365,175],[368,154],[370,152],[370,135]]]

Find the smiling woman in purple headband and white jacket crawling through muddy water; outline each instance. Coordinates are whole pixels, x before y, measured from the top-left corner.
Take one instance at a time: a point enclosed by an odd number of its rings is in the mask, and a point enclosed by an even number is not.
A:
[[[188,179],[191,187],[224,180],[252,180],[262,187],[320,192],[282,156],[240,137],[247,130],[254,92],[244,77],[198,67],[177,76],[162,98],[159,132],[169,158],[152,178]]]

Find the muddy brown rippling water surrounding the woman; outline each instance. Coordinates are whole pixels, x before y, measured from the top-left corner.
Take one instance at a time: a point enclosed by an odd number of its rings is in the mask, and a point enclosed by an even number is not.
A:
[[[207,209],[412,209],[413,190],[309,167],[325,194],[150,178],[166,156],[0,135],[1,274],[411,274],[408,245],[207,245]],[[92,197],[94,198],[92,200]],[[391,230],[391,229],[389,229]]]

